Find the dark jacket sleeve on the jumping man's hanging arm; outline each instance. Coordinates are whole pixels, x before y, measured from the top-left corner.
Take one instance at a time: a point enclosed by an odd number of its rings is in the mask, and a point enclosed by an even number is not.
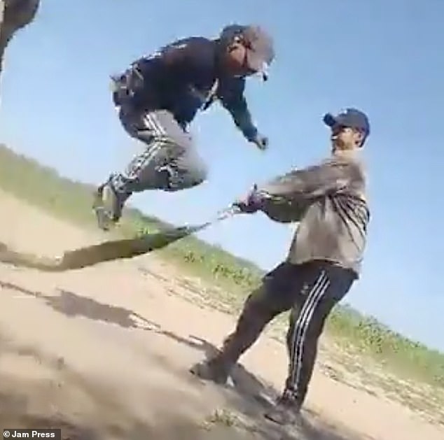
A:
[[[251,119],[247,100],[244,97],[244,89],[244,78],[226,80],[219,87],[218,98],[223,107],[230,112],[236,127],[240,129],[248,141],[253,141],[258,130]]]

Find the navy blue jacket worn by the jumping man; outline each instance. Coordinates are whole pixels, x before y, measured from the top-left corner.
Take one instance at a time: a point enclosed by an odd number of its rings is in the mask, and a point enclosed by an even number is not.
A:
[[[258,132],[244,97],[245,79],[221,75],[220,53],[218,40],[190,37],[174,41],[138,59],[125,71],[120,77],[120,91],[113,94],[114,102],[141,111],[162,108],[172,112],[181,125],[187,125],[197,111],[218,99],[251,141]]]

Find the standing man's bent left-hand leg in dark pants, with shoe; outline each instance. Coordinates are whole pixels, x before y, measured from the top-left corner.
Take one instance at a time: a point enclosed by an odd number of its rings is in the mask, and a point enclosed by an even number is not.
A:
[[[261,286],[249,294],[235,331],[223,341],[221,350],[211,359],[193,365],[191,373],[216,383],[226,383],[230,370],[256,342],[268,322],[291,308],[298,280],[298,267],[289,263],[279,264],[265,275]]]

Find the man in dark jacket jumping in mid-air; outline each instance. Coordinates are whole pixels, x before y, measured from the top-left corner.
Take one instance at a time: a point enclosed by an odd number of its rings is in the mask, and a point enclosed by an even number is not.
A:
[[[133,192],[179,191],[206,180],[207,166],[188,125],[216,99],[247,141],[264,150],[268,139],[251,120],[244,87],[245,78],[256,73],[266,80],[274,57],[272,39],[261,27],[233,24],[214,40],[174,41],[113,78],[120,122],[146,148],[98,188],[94,209],[99,227],[106,230],[118,222]]]

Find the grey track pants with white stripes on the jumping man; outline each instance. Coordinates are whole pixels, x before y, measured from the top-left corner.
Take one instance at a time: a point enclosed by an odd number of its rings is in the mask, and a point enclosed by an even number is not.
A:
[[[197,154],[193,139],[172,113],[139,113],[120,108],[119,118],[130,136],[146,144],[124,171],[109,178],[120,201],[132,192],[184,190],[207,178],[207,167]]]

